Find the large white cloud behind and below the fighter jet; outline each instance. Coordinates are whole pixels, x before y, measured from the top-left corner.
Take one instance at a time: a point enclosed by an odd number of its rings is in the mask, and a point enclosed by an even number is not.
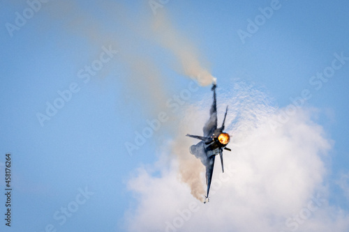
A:
[[[181,157],[172,157],[170,167],[158,167],[160,177],[141,169],[128,185],[138,196],[138,207],[126,216],[128,230],[348,231],[348,212],[328,202],[324,179],[329,170],[323,160],[332,141],[311,120],[317,113],[299,109],[283,127],[272,130],[268,121],[279,113],[267,104],[262,92],[246,85],[235,85],[232,92],[218,96],[218,119],[224,114],[224,102],[230,106],[226,125],[232,134],[232,152],[225,153],[225,165],[234,169],[234,174],[223,174],[228,181],[204,205],[191,196],[193,189],[178,179]],[[183,130],[200,130],[198,125],[207,120],[200,115],[208,117],[210,102],[188,107]],[[198,118],[191,118],[193,111]],[[186,142],[183,146],[188,148]],[[195,159],[188,151],[181,152],[186,152],[186,159]],[[220,176],[218,164],[213,181]],[[205,177],[199,174],[196,178]],[[186,209],[193,202],[198,210],[187,217]]]

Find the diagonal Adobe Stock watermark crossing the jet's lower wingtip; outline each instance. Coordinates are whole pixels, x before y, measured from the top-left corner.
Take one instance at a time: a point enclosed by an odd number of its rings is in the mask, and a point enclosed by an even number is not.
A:
[[[232,165],[228,167],[228,169],[225,170],[225,173],[220,173],[218,178],[213,178],[211,182],[211,190],[210,195],[214,196],[216,194],[216,191],[221,189],[223,186],[223,183],[228,182],[230,178],[232,178],[232,175],[234,173],[237,173],[236,169],[232,168]],[[188,203],[188,207],[184,208],[182,210],[177,210],[177,216],[172,219],[172,221],[166,221],[165,222],[165,232],[177,232],[180,231],[181,227],[184,226],[186,222],[191,219],[192,215],[195,212],[198,212],[200,210],[200,206],[203,204],[198,204],[198,201],[191,201]]]

